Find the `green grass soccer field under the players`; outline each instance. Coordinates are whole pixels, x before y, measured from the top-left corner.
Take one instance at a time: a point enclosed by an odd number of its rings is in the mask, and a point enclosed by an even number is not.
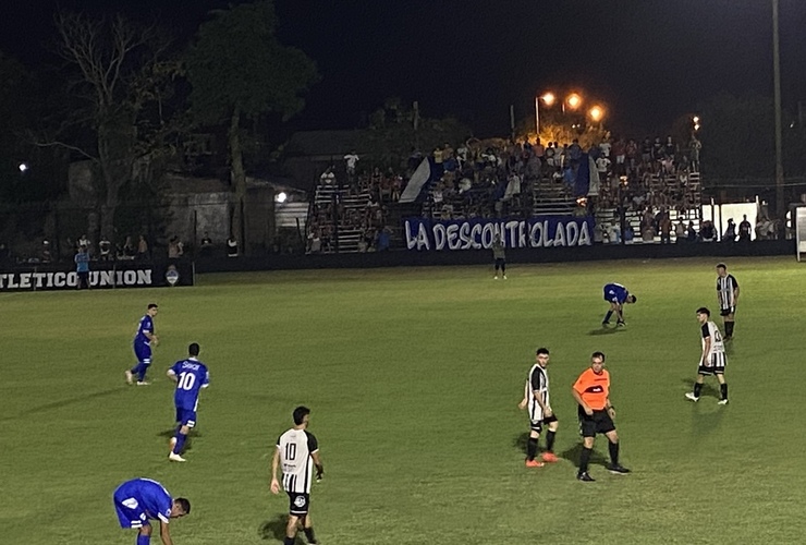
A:
[[[134,476],[191,499],[171,524],[179,545],[280,543],[288,500],[268,491],[270,456],[300,403],[326,467],[312,495],[326,545],[802,543],[806,269],[729,262],[742,295],[731,404],[718,407],[713,386],[696,404],[683,397],[700,350],[694,311],[716,311],[715,264],[511,265],[497,282],[489,267],[208,275],[195,288],[2,294],[0,543],[133,543],[111,493]],[[602,331],[612,280],[638,303],[626,329]],[[151,301],[155,383],[127,387]],[[171,464],[164,371],[192,341],[211,387],[188,462]],[[562,460],[527,470],[516,403],[538,346],[551,349]],[[633,473],[604,470],[599,437],[587,484],[574,479],[571,384],[594,350],[608,355]]]

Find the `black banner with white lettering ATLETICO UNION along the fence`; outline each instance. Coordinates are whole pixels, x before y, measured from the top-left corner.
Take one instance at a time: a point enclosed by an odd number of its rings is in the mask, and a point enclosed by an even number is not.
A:
[[[163,286],[193,286],[193,264],[176,262],[163,264],[98,264],[90,263],[89,287],[111,288],[158,288]],[[57,265],[28,265],[0,269],[0,292],[75,290],[78,274],[60,269]]]

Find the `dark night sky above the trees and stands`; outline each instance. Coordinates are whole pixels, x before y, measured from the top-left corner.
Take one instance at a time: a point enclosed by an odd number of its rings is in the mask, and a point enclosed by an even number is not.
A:
[[[806,2],[780,0],[784,107],[806,101]],[[47,59],[57,4],[159,21],[190,37],[217,0],[11,0],[0,49]],[[13,5],[9,5],[13,4]],[[718,93],[772,95],[770,0],[276,0],[280,38],[322,80],[292,123],[347,129],[386,97],[457,116],[478,135],[509,132],[509,106],[575,89],[628,135],[665,130]],[[707,120],[705,120],[707,122]]]

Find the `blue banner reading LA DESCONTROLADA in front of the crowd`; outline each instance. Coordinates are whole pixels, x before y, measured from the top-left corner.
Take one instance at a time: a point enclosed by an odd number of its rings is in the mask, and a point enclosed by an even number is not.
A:
[[[594,243],[594,218],[535,216],[529,219],[407,218],[404,221],[408,250],[480,250],[492,246],[501,233],[506,247],[570,247]]]

